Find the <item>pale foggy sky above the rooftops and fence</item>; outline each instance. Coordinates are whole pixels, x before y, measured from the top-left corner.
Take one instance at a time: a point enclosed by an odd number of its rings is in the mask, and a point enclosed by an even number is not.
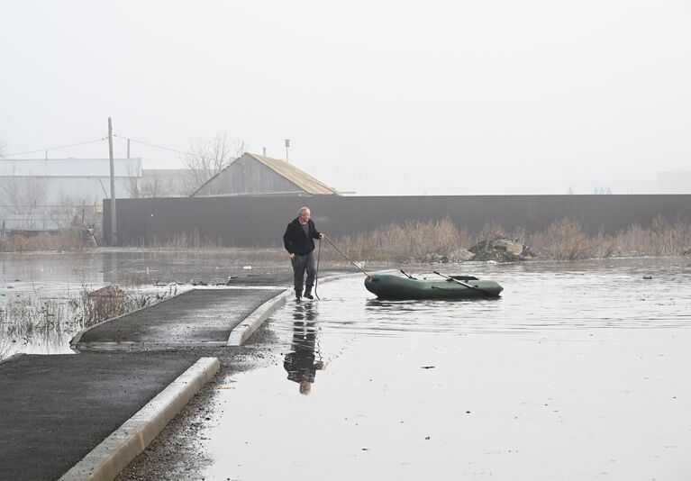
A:
[[[4,1],[0,141],[98,139],[111,116],[175,150],[225,132],[283,159],[289,138],[297,167],[359,195],[655,193],[691,170],[690,5]]]

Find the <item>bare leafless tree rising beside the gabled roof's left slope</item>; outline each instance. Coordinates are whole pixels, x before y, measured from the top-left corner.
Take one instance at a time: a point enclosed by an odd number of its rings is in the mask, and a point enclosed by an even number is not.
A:
[[[187,194],[192,194],[203,186],[207,180],[228,167],[244,152],[245,142],[238,139],[231,145],[225,133],[217,133],[210,141],[199,138],[196,144],[190,145],[189,153],[180,157],[180,162],[187,171]]]

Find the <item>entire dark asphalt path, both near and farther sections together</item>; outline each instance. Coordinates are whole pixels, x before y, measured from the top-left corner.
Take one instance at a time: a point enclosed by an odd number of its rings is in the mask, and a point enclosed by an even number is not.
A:
[[[82,334],[77,355],[0,363],[0,480],[59,478],[200,357],[220,358],[222,373],[262,358],[224,343],[233,327],[284,291],[276,286],[290,286],[290,275],[231,284],[241,288],[195,289],[95,326]],[[89,351],[118,343],[126,351]],[[204,412],[198,403],[208,390],[193,398],[195,412]]]

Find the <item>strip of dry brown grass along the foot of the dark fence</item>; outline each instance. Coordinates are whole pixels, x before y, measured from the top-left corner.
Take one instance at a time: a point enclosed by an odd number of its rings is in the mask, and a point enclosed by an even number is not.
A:
[[[528,233],[524,229],[505,231],[496,222],[478,232],[469,232],[450,219],[392,223],[374,231],[336,237],[333,241],[350,258],[368,261],[422,261],[431,254],[451,260],[468,259],[468,250],[482,241],[508,239],[528,248],[532,259],[604,259],[613,257],[677,256],[691,254],[691,224],[656,218],[649,228],[631,225],[614,235],[589,235],[579,222],[562,219],[546,230]],[[285,260],[285,251],[275,249],[222,248],[221,242],[203,239],[198,232],[178,234],[168,241],[155,239],[139,249],[228,251],[238,261]],[[13,237],[0,241],[0,250],[88,250],[93,242],[75,232],[36,238]],[[472,256],[470,256],[472,257]],[[323,242],[322,259],[341,261],[341,254]]]

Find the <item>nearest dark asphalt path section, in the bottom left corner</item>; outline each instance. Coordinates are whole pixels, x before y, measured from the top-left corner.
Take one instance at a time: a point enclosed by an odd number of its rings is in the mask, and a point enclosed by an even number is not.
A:
[[[0,364],[0,479],[59,478],[197,358],[24,355]]]

